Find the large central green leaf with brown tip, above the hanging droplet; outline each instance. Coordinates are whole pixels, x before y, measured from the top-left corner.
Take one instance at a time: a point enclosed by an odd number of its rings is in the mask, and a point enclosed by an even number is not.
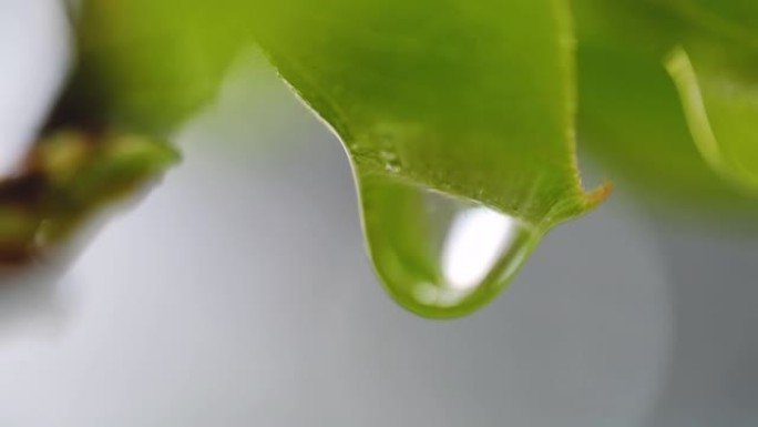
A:
[[[596,203],[574,162],[562,1],[321,0],[263,10],[259,43],[337,131],[359,177],[407,180],[545,225]]]

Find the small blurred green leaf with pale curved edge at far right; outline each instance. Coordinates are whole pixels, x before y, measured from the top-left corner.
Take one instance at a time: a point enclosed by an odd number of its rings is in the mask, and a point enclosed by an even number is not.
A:
[[[734,185],[758,193],[758,49],[690,38],[672,51],[667,70],[703,157]]]

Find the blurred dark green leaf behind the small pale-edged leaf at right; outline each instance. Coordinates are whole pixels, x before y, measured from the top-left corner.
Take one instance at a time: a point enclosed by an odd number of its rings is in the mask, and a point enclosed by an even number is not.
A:
[[[667,72],[670,52],[694,34],[709,33],[655,2],[577,0],[573,6],[580,40],[581,149],[612,176],[635,184],[646,199],[704,212],[756,212],[756,200],[744,185],[725,180],[724,170],[701,154],[693,110],[687,98],[679,96],[682,81],[677,84]],[[724,120],[738,116],[731,115],[736,110],[727,111],[738,105],[730,102],[721,110]],[[745,122],[739,128],[749,126]]]

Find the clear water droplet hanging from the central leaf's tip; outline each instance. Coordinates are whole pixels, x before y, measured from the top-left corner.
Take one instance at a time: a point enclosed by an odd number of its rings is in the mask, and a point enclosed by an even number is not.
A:
[[[400,305],[422,316],[458,317],[486,304],[541,235],[468,200],[386,176],[359,181],[376,271]]]

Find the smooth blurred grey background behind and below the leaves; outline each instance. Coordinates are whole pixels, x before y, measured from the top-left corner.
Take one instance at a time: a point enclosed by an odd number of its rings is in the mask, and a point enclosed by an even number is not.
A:
[[[3,172],[66,45],[57,0],[0,0]],[[622,186],[485,309],[414,317],[371,273],[339,142],[260,62],[70,265],[1,278],[1,427],[758,425],[758,240]]]

